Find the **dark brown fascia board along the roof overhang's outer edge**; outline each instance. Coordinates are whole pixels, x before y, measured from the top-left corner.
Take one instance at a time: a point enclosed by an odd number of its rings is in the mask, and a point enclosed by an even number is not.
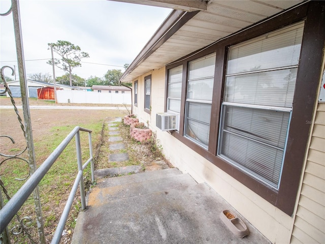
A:
[[[144,60],[146,60],[154,51],[163,45],[170,37],[172,37],[188,20],[194,17],[200,11],[185,12],[181,10],[173,10],[166,20],[159,26],[151,39],[147,42],[138,56],[133,60],[131,65],[125,70],[120,82],[132,71],[134,71]]]

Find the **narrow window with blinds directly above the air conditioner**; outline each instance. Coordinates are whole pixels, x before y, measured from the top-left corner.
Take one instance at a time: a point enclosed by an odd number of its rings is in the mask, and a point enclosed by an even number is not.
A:
[[[181,112],[183,66],[168,70],[167,111]]]

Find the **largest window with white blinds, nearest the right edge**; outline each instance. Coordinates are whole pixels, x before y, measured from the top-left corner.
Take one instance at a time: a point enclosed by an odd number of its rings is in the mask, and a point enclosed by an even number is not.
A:
[[[218,155],[278,189],[303,23],[229,48]]]

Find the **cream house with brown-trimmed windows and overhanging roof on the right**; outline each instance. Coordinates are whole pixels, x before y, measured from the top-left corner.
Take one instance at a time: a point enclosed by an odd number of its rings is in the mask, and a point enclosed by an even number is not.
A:
[[[120,79],[166,158],[271,242],[324,243],[325,1],[141,3],[176,9]]]

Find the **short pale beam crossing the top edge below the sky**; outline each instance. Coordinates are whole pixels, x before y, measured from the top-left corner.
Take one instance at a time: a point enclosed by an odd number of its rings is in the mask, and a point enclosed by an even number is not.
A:
[[[123,3],[142,4],[155,7],[182,10],[186,12],[207,10],[209,0],[111,0]]]

